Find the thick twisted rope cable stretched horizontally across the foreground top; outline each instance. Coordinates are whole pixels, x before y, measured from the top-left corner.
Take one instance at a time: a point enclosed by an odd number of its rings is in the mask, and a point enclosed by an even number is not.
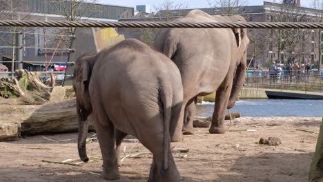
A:
[[[162,21],[11,21],[0,27],[97,27],[97,28],[323,28],[320,22],[162,22]]]

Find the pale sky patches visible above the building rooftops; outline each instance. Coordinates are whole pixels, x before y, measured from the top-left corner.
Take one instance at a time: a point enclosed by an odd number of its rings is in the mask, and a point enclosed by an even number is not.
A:
[[[159,6],[164,0],[99,0],[99,3],[111,4],[111,5],[120,5],[120,6],[130,6],[136,7],[136,5],[150,5],[150,8],[154,6]],[[209,8],[207,0],[174,0],[176,2],[187,2],[188,8]],[[248,2],[248,6],[256,6],[263,5],[263,0],[246,0]],[[266,0],[273,1],[273,0]],[[280,0],[277,0],[280,1]],[[301,0],[301,5],[309,7],[311,0]]]

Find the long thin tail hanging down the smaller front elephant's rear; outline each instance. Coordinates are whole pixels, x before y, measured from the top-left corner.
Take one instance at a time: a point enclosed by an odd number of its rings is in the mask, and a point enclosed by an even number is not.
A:
[[[160,97],[164,105],[164,170],[168,170],[168,150],[170,147],[170,119],[172,114],[172,95],[167,87],[161,88]]]

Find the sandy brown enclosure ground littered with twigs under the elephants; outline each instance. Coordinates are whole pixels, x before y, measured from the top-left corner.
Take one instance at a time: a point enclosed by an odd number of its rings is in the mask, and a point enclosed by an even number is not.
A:
[[[176,148],[189,148],[188,153],[173,152],[182,181],[306,181],[315,150],[321,118],[240,118],[230,130],[253,129],[255,132],[208,134],[196,128]],[[299,131],[306,130],[309,132]],[[313,133],[312,133],[313,132]],[[257,144],[260,137],[276,136],[280,146]],[[64,161],[77,154],[77,133],[29,136],[19,141],[0,143],[0,181],[104,181],[98,143],[88,143],[89,163],[81,166],[46,163]],[[147,151],[140,143],[123,143],[126,154]],[[152,162],[151,154],[124,159],[119,181],[146,181]]]

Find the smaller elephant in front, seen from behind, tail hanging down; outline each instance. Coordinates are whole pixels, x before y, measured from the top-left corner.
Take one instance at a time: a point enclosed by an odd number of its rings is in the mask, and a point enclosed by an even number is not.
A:
[[[179,120],[183,88],[173,61],[127,39],[97,55],[79,57],[74,77],[82,161],[88,161],[86,119],[92,114],[104,179],[119,179],[120,143],[131,134],[153,153],[148,181],[179,181],[170,136]]]

